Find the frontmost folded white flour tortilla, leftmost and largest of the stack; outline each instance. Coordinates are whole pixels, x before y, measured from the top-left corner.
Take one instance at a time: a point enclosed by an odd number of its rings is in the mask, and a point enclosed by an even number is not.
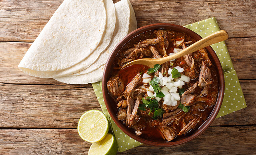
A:
[[[64,0],[18,67],[29,75],[49,78],[46,73],[81,62],[101,42],[106,20],[103,0]]]

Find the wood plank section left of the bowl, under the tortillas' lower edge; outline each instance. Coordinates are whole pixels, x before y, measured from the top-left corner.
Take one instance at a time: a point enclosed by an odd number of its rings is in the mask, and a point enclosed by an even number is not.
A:
[[[0,82],[12,84],[67,85],[54,79],[41,79],[22,72],[18,65],[32,43],[0,42]],[[76,86],[76,85],[73,85]],[[84,85],[91,87],[91,84]]]

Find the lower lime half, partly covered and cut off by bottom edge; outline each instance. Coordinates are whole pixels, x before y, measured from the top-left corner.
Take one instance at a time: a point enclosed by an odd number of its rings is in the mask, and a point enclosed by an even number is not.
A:
[[[111,133],[108,133],[103,140],[92,143],[88,155],[115,155],[116,152],[116,140]]]

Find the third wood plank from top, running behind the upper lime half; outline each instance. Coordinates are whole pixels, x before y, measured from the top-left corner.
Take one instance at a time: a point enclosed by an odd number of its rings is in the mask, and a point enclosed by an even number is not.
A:
[[[247,108],[223,116],[212,125],[256,124],[256,81],[240,81]],[[88,110],[101,110],[91,87],[10,85],[0,83],[0,127],[76,128]]]

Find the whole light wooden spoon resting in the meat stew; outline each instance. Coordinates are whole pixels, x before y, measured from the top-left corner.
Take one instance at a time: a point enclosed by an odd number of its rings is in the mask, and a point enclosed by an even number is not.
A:
[[[217,32],[214,32],[214,33],[202,38],[201,40],[193,43],[192,45],[188,46],[186,49],[184,49],[176,54],[173,54],[173,55],[170,55],[167,57],[163,57],[163,58],[159,58],[159,59],[151,59],[151,58],[137,59],[137,60],[131,61],[129,63],[126,63],[125,65],[122,66],[121,69],[123,69],[127,66],[135,65],[135,64],[142,64],[142,65],[148,66],[150,68],[153,68],[155,64],[162,65],[163,63],[165,63],[167,61],[183,57],[183,56],[193,53],[197,50],[205,48],[206,46],[209,46],[211,44],[214,44],[214,43],[217,43],[220,41],[224,41],[226,39],[228,39],[228,33],[226,31],[224,31],[224,30],[217,31]]]

